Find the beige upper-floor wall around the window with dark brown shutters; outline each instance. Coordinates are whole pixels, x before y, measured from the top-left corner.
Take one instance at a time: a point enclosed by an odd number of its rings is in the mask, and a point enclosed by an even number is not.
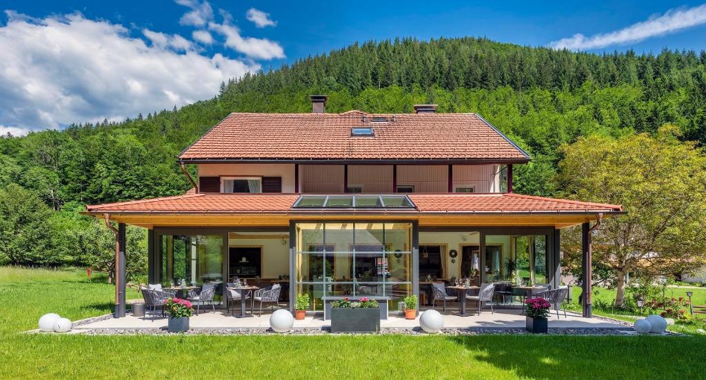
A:
[[[294,192],[294,164],[199,164],[198,176],[282,177],[282,192]]]

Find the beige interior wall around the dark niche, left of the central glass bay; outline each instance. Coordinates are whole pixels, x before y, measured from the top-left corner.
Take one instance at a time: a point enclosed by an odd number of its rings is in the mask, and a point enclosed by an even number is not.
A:
[[[246,246],[263,249],[263,278],[278,278],[289,275],[289,233],[285,233],[285,244],[282,244],[282,234],[271,238],[233,238],[228,239],[229,247]]]

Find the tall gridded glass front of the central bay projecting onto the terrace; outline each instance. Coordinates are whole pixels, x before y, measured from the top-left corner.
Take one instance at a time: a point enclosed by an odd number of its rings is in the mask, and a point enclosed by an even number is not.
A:
[[[325,295],[381,295],[396,309],[412,292],[412,224],[297,223],[297,294],[323,309]]]

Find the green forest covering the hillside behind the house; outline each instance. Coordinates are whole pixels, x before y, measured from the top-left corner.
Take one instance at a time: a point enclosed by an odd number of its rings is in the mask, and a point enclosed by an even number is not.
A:
[[[109,269],[100,257],[111,255],[112,235],[78,215],[85,204],[181,194],[189,189],[175,161],[181,149],[233,111],[309,112],[309,94],[328,94],[327,112],[409,113],[419,103],[477,112],[532,155],[515,170],[515,191],[532,195],[561,191],[559,148],[580,136],[652,134],[671,124],[683,140],[706,141],[705,51],[588,54],[473,37],[395,39],[234,78],[214,93],[121,123],[0,138],[0,263]],[[130,233],[133,255],[143,257],[144,231]],[[131,273],[142,270],[135,262]]]

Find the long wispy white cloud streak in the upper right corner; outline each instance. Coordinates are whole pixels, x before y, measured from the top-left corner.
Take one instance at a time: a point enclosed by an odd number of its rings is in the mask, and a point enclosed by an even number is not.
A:
[[[652,16],[621,30],[590,37],[577,34],[573,37],[558,39],[549,43],[549,46],[554,49],[599,49],[611,45],[639,42],[643,39],[678,32],[704,23],[706,23],[706,4],[694,8],[670,9],[664,15]]]

